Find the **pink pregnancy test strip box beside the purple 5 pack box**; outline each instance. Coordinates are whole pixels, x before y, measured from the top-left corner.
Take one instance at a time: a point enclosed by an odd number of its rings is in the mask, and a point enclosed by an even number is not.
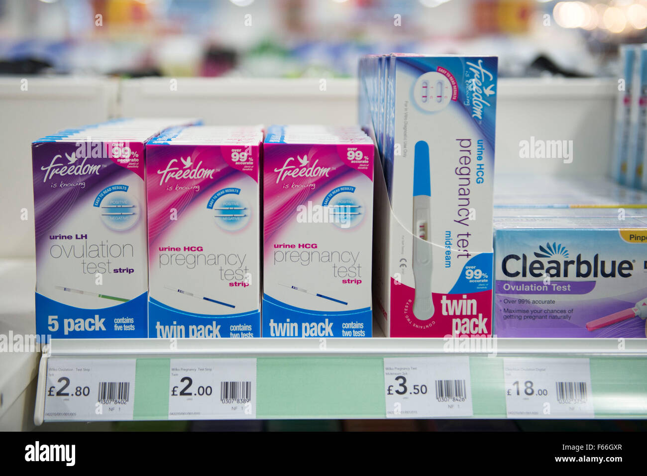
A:
[[[149,337],[260,337],[260,127],[146,144]]]

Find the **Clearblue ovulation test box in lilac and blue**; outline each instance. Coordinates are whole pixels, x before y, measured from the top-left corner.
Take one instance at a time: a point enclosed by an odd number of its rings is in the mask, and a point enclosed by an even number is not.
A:
[[[498,337],[646,337],[644,218],[496,218]]]

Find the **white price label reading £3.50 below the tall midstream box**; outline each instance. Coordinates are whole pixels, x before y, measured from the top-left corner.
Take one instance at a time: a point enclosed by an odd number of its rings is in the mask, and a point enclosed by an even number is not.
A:
[[[472,416],[469,357],[384,359],[387,418]]]

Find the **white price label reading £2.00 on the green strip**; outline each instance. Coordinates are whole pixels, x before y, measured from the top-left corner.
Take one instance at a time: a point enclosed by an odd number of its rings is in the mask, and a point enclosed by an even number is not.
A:
[[[171,359],[169,420],[256,418],[256,359]]]

